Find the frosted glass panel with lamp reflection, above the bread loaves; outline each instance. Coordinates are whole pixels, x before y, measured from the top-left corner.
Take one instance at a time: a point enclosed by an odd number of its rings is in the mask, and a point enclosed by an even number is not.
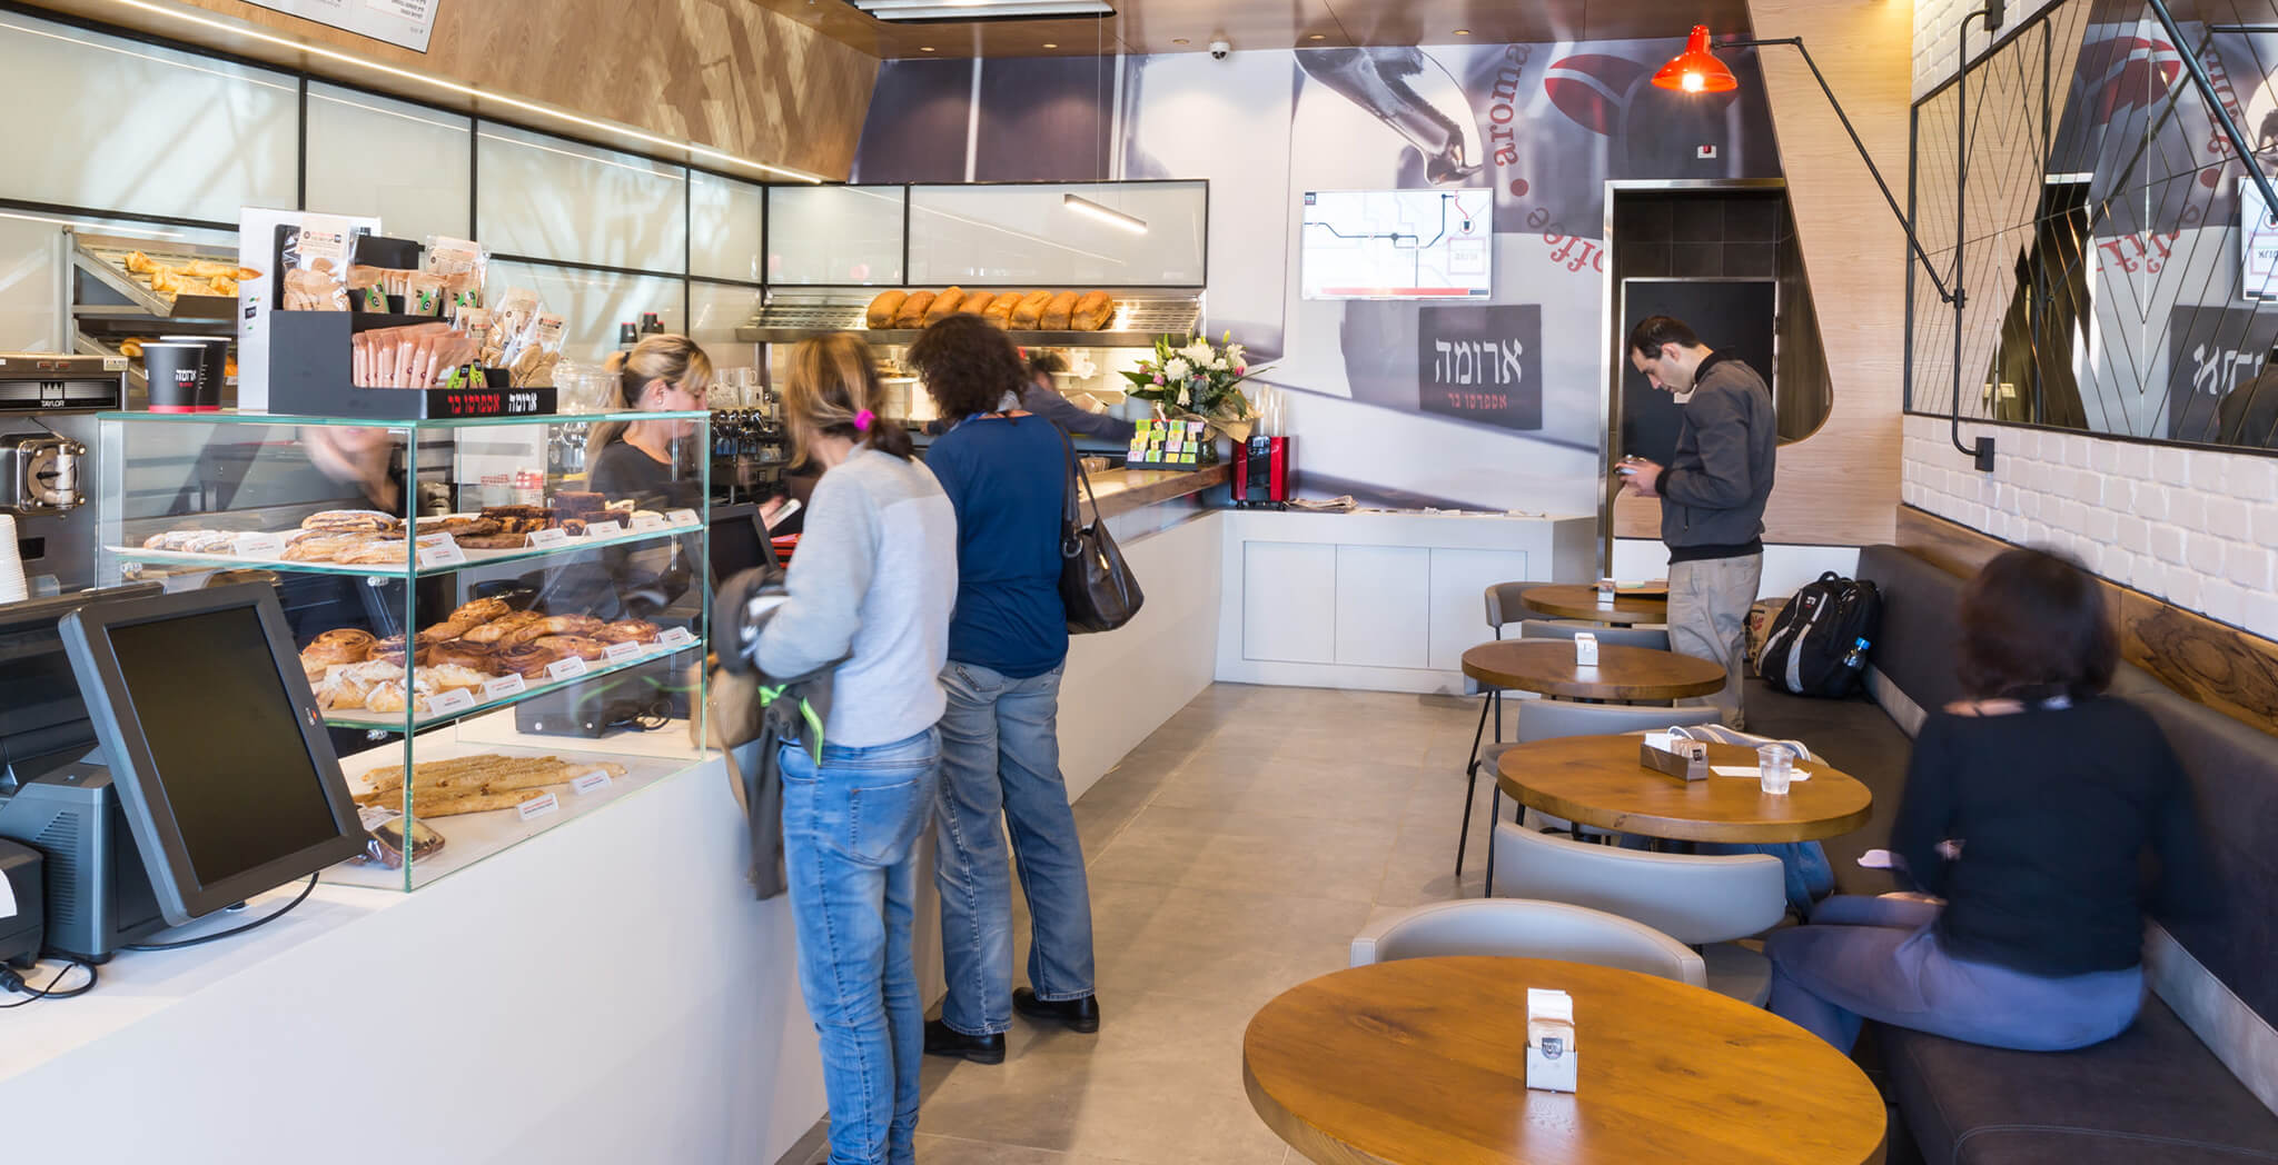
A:
[[[911,284],[1203,287],[1207,182],[909,189]],[[1068,209],[1066,196],[1144,232]]]

